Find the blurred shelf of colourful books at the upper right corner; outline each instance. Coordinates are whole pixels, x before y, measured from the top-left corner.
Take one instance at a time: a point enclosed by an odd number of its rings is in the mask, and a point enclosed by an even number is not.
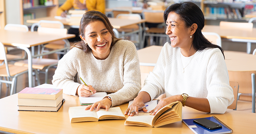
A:
[[[255,11],[256,1],[240,0],[202,0],[201,9],[205,20],[223,20],[223,21],[244,21],[246,14]]]

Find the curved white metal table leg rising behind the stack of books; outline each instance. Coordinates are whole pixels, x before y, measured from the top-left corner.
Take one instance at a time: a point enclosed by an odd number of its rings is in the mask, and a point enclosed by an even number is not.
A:
[[[28,54],[28,85],[29,85],[29,87],[33,87],[32,86],[32,55],[31,55],[31,52],[29,51],[29,49],[27,47],[17,47],[17,48],[23,49]]]

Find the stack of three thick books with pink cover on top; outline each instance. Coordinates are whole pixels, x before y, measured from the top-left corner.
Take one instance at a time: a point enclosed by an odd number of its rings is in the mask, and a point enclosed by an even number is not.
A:
[[[65,99],[63,89],[25,88],[18,93],[18,111],[57,112]]]

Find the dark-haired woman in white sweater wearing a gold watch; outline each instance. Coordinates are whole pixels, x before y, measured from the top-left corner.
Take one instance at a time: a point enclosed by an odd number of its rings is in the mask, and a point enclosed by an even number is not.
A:
[[[201,9],[192,2],[175,3],[165,10],[164,19],[170,42],[165,43],[153,72],[125,114],[138,114],[145,102],[163,93],[166,98],[150,114],[175,101],[203,112],[225,113],[234,94],[222,48],[202,35]],[[136,112],[130,114],[132,110]]]

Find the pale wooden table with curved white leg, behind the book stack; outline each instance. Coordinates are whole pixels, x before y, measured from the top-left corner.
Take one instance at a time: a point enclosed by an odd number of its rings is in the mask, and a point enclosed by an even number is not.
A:
[[[6,46],[14,46],[19,49],[23,49],[28,54],[28,82],[29,87],[32,87],[32,58],[38,55],[31,55],[28,48],[37,46],[40,44],[49,43],[52,41],[73,38],[74,34],[38,34],[37,32],[20,32],[10,30],[0,30],[0,42]],[[62,51],[62,49],[56,50]],[[51,52],[55,53],[55,52]],[[48,53],[46,53],[48,54]]]

